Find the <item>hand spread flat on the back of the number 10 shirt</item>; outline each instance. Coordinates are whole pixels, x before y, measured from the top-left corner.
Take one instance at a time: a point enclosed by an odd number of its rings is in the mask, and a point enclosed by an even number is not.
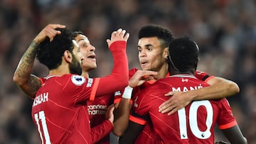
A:
[[[159,112],[169,112],[168,115],[175,113],[191,102],[191,95],[187,92],[168,92],[165,96],[171,96],[171,98],[159,106]]]

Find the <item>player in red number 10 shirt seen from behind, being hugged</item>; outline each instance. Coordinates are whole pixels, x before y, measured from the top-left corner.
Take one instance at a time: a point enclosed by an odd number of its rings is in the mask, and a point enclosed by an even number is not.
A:
[[[191,38],[177,38],[171,42],[167,60],[170,76],[137,93],[132,106],[134,119],[119,139],[120,143],[134,143],[146,123],[153,134],[137,143],[214,143],[216,123],[230,143],[247,143],[225,98],[193,101],[171,116],[159,113],[159,106],[169,99],[164,96],[167,92],[187,92],[209,86],[194,76],[198,55],[198,45]]]

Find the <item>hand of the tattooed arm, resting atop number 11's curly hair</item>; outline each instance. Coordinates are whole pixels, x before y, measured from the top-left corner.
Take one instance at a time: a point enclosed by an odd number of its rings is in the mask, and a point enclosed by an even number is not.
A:
[[[38,33],[38,35],[36,35],[36,38],[34,38],[36,43],[43,42],[47,37],[52,41],[55,35],[61,33],[60,31],[56,31],[55,28],[65,28],[65,26],[60,24],[48,24],[40,33]]]

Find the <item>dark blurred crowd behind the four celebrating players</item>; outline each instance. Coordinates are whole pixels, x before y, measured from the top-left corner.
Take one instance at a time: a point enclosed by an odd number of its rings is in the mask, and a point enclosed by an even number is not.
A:
[[[117,28],[130,33],[129,68],[139,68],[137,33],[142,26],[155,23],[175,37],[191,36],[201,49],[198,70],[231,79],[240,87],[240,94],[228,100],[248,143],[256,143],[255,13],[253,0],[1,0],[0,143],[40,143],[31,119],[33,101],[12,77],[23,52],[48,23],[65,24],[88,36],[96,47],[98,66],[90,77],[110,74],[113,62],[106,39]],[[33,74],[47,73],[36,61]],[[225,140],[218,131],[216,140]]]

